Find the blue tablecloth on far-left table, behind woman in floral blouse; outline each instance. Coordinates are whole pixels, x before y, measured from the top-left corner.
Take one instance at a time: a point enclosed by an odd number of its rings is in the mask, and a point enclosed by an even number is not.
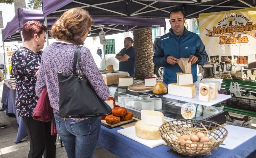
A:
[[[15,107],[15,101],[17,97],[17,91],[12,90],[5,84],[3,86],[2,103],[7,105],[7,113],[15,114],[17,123],[19,124],[18,133],[15,143],[19,143],[23,138],[27,136],[27,130],[21,117],[18,117],[18,112]]]

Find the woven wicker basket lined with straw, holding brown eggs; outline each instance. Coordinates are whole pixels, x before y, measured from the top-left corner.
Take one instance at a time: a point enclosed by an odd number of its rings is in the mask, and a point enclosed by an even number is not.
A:
[[[228,131],[217,123],[199,119],[180,119],[162,124],[159,128],[162,139],[174,151],[185,156],[202,156],[210,154],[223,142]],[[184,143],[178,138],[202,132],[210,138],[209,142]]]

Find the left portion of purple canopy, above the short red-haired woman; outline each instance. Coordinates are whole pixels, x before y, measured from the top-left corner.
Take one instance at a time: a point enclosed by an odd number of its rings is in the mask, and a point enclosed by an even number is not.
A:
[[[47,18],[47,27],[50,28],[56,18]],[[14,18],[6,24],[5,29],[2,29],[2,40],[7,41],[21,41],[20,31],[22,31],[23,24],[27,21],[37,20],[44,24],[42,10],[31,10],[18,8]]]

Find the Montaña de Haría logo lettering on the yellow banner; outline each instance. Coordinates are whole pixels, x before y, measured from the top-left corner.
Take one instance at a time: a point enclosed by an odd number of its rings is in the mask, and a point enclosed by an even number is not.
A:
[[[206,29],[206,36],[219,38],[219,44],[248,43],[248,36],[256,38],[256,24],[243,15],[231,14],[213,26],[212,30]]]

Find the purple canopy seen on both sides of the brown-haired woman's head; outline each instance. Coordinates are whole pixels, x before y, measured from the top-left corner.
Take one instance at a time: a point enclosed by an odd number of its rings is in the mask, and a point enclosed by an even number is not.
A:
[[[127,32],[130,30],[165,27],[165,19],[143,18],[143,17],[92,17],[94,24],[91,28],[91,36],[98,36],[103,29],[106,35]],[[2,30],[2,39],[7,41],[21,41],[20,31],[27,21],[38,20],[43,23],[43,13],[41,10],[30,10],[18,8],[18,13],[7,23]],[[51,28],[56,18],[47,18],[47,27]],[[44,23],[43,23],[44,24]]]

